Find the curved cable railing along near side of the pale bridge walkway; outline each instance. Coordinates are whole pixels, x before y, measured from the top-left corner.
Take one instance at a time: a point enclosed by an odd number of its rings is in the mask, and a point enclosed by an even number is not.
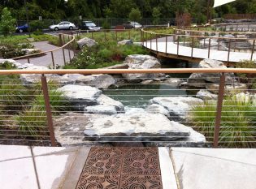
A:
[[[255,39],[239,37],[210,36],[212,32],[175,30],[174,34],[141,30],[143,46],[163,57],[181,58],[200,62],[214,58],[232,66],[241,60],[254,60]],[[207,34],[207,35],[206,35]],[[247,33],[248,34],[248,33]]]

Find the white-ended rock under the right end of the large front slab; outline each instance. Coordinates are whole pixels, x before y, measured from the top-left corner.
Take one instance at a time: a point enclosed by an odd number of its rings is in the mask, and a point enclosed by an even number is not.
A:
[[[171,142],[145,143],[146,147],[185,147],[185,148],[203,148],[206,145],[206,137],[189,127],[190,135],[187,138],[174,140]]]

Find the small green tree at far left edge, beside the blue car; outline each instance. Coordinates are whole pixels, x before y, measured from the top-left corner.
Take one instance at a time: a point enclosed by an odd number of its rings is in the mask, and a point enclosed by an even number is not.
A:
[[[0,33],[7,37],[11,32],[15,32],[15,22],[16,20],[12,18],[11,12],[5,7],[2,10],[2,16],[0,20]]]

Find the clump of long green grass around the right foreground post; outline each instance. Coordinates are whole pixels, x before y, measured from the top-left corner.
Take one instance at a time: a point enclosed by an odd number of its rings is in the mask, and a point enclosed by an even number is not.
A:
[[[205,101],[193,107],[189,118],[193,127],[209,141],[215,132],[216,102]],[[228,148],[249,148],[256,144],[256,107],[252,101],[229,97],[223,101],[219,144]]]

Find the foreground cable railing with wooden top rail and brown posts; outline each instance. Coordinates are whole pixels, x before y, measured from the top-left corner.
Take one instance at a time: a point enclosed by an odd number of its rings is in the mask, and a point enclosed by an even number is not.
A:
[[[88,82],[99,74],[108,79]],[[39,77],[28,84],[24,75]],[[235,68],[1,70],[0,144],[255,148],[255,75]]]

